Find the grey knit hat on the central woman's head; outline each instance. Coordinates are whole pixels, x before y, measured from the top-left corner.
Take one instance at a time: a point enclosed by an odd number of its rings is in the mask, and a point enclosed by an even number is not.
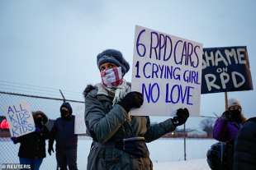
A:
[[[117,67],[121,67],[123,75],[125,75],[130,69],[129,63],[126,62],[126,59],[123,57],[121,52],[116,49],[107,49],[102,53],[97,54],[97,67],[100,68],[100,66],[105,62],[110,62],[115,64]]]

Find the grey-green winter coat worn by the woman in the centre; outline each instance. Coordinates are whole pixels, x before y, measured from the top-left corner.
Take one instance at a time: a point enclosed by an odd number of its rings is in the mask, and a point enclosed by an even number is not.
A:
[[[93,139],[87,169],[152,169],[149,155],[136,157],[128,154],[116,148],[116,140],[134,136],[145,137],[146,142],[157,140],[174,131],[171,119],[151,126],[149,117],[129,117],[121,105],[112,104],[110,96],[97,94],[97,87],[85,91],[85,123]],[[148,151],[146,145],[145,149]]]

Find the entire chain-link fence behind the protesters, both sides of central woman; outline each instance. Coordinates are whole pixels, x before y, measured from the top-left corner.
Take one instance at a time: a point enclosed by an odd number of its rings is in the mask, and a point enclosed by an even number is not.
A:
[[[17,93],[7,93],[7,92],[1,92],[0,91],[0,117],[4,116],[5,108],[10,104],[17,104],[22,101],[26,101],[26,103],[29,103],[31,107],[31,111],[40,110],[43,111],[49,119],[55,120],[57,117],[60,117],[59,113],[59,107],[63,103],[63,99],[58,98],[48,98],[48,97],[42,97],[42,96],[36,96],[36,95],[27,95],[27,94],[17,94]],[[83,101],[76,101],[76,100],[67,100],[71,104],[73,108],[73,113],[81,113],[84,112],[84,103]],[[198,121],[203,119],[209,119],[210,122],[204,122],[204,127],[210,127],[212,128],[212,123],[215,121],[216,117],[197,117]],[[190,120],[189,120],[190,121]],[[198,122],[197,121],[197,122]],[[197,159],[197,158],[203,158],[206,154],[206,149],[210,147],[212,143],[214,143],[214,140],[207,140],[209,136],[206,136],[206,140],[193,140],[193,139],[187,139],[186,138],[190,135],[195,136],[192,134],[192,131],[188,131],[189,127],[186,126],[186,130],[183,130],[183,127],[180,127],[181,136],[176,135],[175,133],[167,134],[166,137],[177,137],[178,140],[158,140],[156,143],[150,143],[149,144],[149,150],[151,152],[154,151],[154,154],[151,154],[151,159],[154,162],[158,162],[159,160],[181,160],[186,159],[186,155],[188,159]],[[211,130],[211,129],[210,129]],[[186,134],[183,134],[186,131]],[[19,158],[17,156],[19,144],[14,145],[12,140],[10,139],[10,134],[7,133],[8,131],[0,131],[0,165],[2,163],[19,163]],[[179,134],[179,131],[176,131],[177,134]],[[211,134],[211,132],[210,132]],[[196,134],[198,137],[198,133]],[[183,141],[183,136],[186,136]],[[201,135],[200,135],[201,136]],[[198,139],[200,139],[200,136]],[[205,134],[202,134],[202,136],[205,136]],[[193,146],[193,143],[201,143],[201,145],[204,145],[203,148],[200,151],[197,149],[193,149],[195,147]],[[47,144],[48,142],[46,142]],[[78,136],[78,169],[86,169],[87,166],[87,157],[90,150],[90,145],[92,143],[92,139],[88,136]],[[155,146],[158,144],[164,144],[162,148],[178,148],[178,156],[175,156],[173,158],[173,154],[169,155],[169,152],[166,151],[166,153],[161,153],[161,155],[165,155],[164,157],[159,155],[157,153],[157,150],[159,150],[159,146]],[[174,145],[175,144],[175,145]],[[157,148],[157,149],[156,149]],[[48,146],[46,145],[46,150],[48,149]],[[168,150],[168,149],[164,149]],[[187,151],[186,151],[187,150]],[[163,151],[164,152],[164,151]],[[184,155],[184,157],[183,157]],[[163,158],[162,158],[163,157]],[[177,158],[176,158],[177,157]],[[51,156],[46,153],[46,158],[43,160],[43,163],[40,166],[41,170],[51,170],[56,169],[56,159],[55,159],[55,153]],[[0,168],[1,169],[1,168]]]

